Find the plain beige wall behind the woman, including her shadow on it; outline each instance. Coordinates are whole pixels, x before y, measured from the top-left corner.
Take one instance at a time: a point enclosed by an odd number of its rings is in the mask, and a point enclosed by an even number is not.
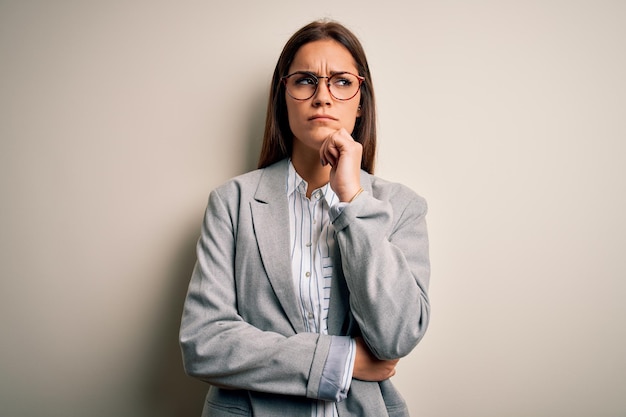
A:
[[[0,415],[199,416],[178,324],[273,66],[354,30],[427,198],[422,417],[626,415],[626,2],[0,0]]]

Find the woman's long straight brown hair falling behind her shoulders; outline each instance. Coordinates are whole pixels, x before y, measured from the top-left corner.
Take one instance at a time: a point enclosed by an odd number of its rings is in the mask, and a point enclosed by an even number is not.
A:
[[[376,108],[374,87],[365,51],[357,37],[340,23],[315,21],[298,30],[283,48],[270,87],[263,145],[259,157],[259,168],[265,168],[291,155],[293,133],[287,118],[285,87],[281,77],[287,75],[298,50],[305,44],[324,39],[333,39],[343,45],[356,62],[359,75],[365,77],[361,85],[361,116],[357,118],[352,137],[363,145],[361,168],[372,174],[376,158]]]

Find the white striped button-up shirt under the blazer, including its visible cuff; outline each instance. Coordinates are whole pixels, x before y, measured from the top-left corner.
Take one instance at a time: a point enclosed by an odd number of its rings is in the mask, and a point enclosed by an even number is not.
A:
[[[308,184],[289,162],[287,195],[289,198],[291,268],[295,296],[304,327],[308,332],[328,334],[328,307],[333,276],[335,230],[330,207],[339,203],[330,184],[318,188],[307,198]],[[320,391],[334,390],[338,400],[345,398],[352,379],[355,343],[349,337],[333,337],[331,351],[322,375]],[[340,341],[342,343],[334,343]],[[341,346],[338,346],[341,345]],[[340,368],[340,369],[326,369]],[[326,383],[324,381],[330,381]],[[337,417],[333,401],[318,400],[312,417]]]

